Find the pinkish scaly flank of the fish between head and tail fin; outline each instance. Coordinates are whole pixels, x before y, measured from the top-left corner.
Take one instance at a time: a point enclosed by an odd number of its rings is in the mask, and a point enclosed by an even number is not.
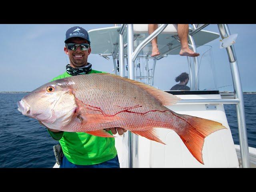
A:
[[[174,118],[172,120],[173,127],[183,128],[179,124],[180,119],[173,115],[168,108],[143,88],[128,81],[101,74],[81,75],[69,79],[75,83],[72,85],[75,97],[84,104],[83,114],[106,116],[116,114],[122,120],[81,126],[81,121],[75,117],[63,130],[86,132],[110,127],[122,127],[127,130],[147,130],[153,127],[170,128],[172,125],[168,123],[170,122],[169,118]],[[129,110],[129,108],[132,109]],[[123,110],[129,112],[121,112]],[[175,131],[180,132],[181,130]]]

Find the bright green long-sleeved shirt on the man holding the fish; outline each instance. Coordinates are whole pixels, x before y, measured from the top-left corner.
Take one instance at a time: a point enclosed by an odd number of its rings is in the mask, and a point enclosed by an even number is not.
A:
[[[90,73],[103,73],[92,70]],[[84,74],[86,75],[86,74]],[[67,72],[51,81],[70,77]],[[48,130],[52,138],[59,140],[65,157],[76,165],[94,165],[117,155],[114,138],[93,136],[84,132],[59,132]],[[111,131],[109,131],[112,134]]]

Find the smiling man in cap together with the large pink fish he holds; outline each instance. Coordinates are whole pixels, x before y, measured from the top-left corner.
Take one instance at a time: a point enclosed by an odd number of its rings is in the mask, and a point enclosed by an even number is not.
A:
[[[204,164],[204,138],[226,129],[221,123],[168,109],[180,100],[175,95],[92,70],[87,62],[90,39],[83,28],[70,28],[65,43],[70,58],[66,72],[18,102],[23,115],[42,122],[60,141],[64,152],[60,167],[119,167],[114,136],[108,130],[113,134],[129,130],[165,144],[156,134],[158,128],[174,130]]]

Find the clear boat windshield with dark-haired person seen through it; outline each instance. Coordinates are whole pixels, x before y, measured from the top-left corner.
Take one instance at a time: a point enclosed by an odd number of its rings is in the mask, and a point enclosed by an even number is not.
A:
[[[151,44],[140,52],[134,62],[135,80],[165,91],[218,90],[211,46],[197,45],[196,52],[200,56],[196,58],[180,56],[180,48],[161,56],[170,48],[166,45],[158,45],[158,48],[160,57],[155,60],[151,57]]]

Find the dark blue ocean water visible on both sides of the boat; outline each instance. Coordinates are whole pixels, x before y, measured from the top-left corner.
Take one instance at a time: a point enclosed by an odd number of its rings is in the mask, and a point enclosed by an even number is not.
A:
[[[52,168],[51,138],[37,120],[22,115],[17,102],[27,93],[0,93],[0,168]],[[256,94],[244,94],[248,144],[256,148]],[[236,106],[224,105],[235,144],[239,144]]]

